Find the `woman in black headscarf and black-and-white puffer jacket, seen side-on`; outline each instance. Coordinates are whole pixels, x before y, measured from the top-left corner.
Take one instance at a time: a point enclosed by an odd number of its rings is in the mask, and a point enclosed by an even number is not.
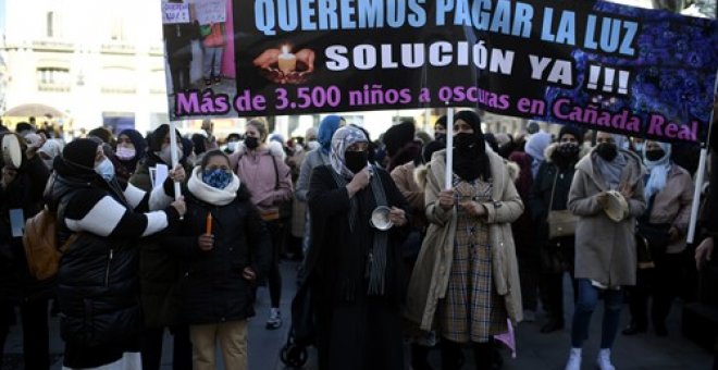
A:
[[[184,200],[148,212],[149,194],[117,182],[92,139],[70,143],[54,172],[46,197],[58,213],[59,240],[76,236],[67,242],[57,278],[63,369],[140,368],[138,240],[178,222]]]

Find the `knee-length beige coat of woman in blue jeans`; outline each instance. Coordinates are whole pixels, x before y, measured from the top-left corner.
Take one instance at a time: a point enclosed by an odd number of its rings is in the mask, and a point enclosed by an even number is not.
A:
[[[621,184],[630,184],[633,197],[628,200],[629,218],[611,221],[598,205],[597,195],[610,190],[594,161],[595,149],[575,165],[569,190],[568,209],[579,217],[575,225],[575,278],[591,279],[609,286],[635,285],[635,218],[643,214],[644,169],[639,156],[620,150],[628,164]]]

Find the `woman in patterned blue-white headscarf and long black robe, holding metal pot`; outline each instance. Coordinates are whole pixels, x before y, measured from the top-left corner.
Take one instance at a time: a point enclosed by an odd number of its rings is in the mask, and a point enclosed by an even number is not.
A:
[[[314,169],[309,185],[306,269],[321,370],[404,367],[400,246],[408,203],[389,174],[369,164],[368,149],[361,130],[339,128],[330,164]],[[381,206],[387,212],[372,217]],[[388,229],[372,221],[389,221]]]

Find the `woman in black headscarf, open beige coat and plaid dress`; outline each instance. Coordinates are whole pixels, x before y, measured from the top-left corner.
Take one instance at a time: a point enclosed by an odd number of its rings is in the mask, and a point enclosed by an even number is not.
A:
[[[444,189],[446,150],[429,164],[431,224],[409,282],[406,316],[421,330],[438,328],[442,369],[460,368],[463,343],[471,343],[476,368],[490,369],[493,336],[508,331],[507,319],[522,319],[510,223],[523,203],[505,160],[485,149],[476,113],[457,113],[454,132],[450,189]]]

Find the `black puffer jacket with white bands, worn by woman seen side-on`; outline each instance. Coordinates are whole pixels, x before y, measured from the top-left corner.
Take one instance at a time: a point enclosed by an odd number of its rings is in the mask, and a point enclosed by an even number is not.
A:
[[[72,208],[94,207],[82,205],[87,203],[87,199],[98,198],[98,192],[124,202],[113,192],[98,188],[97,184],[73,182],[58,175],[51,182],[48,186],[52,199],[50,209],[57,209],[60,201],[69,201],[67,214]],[[146,208],[145,201],[136,210]],[[168,208],[165,213],[170,223],[178,220],[173,208]],[[146,231],[137,224],[131,225],[131,218],[139,215],[124,215],[110,236],[78,233],[78,238],[63,254],[57,283],[62,313],[60,332],[65,342],[97,346],[122,341],[141,328],[137,242]],[[70,231],[66,219],[59,223],[62,242]],[[122,227],[126,230],[120,230]]]

